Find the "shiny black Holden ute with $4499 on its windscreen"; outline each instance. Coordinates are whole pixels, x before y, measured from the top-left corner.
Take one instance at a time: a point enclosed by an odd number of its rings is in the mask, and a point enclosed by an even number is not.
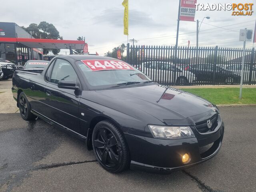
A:
[[[222,144],[214,104],[114,58],[57,56],[41,74],[15,71],[12,92],[24,120],[38,116],[85,139],[109,172],[168,173],[212,158]]]

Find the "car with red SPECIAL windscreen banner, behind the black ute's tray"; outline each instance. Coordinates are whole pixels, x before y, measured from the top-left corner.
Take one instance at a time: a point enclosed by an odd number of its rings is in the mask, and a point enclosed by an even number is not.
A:
[[[48,65],[49,61],[44,60],[28,60],[23,67],[25,71],[31,71],[35,73],[42,73],[44,68]]]

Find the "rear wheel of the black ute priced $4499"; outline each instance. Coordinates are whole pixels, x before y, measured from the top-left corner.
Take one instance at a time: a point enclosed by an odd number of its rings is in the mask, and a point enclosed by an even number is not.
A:
[[[21,117],[24,120],[34,120],[36,116],[31,113],[31,107],[24,92],[20,93],[18,101],[19,101],[19,109],[20,109]]]

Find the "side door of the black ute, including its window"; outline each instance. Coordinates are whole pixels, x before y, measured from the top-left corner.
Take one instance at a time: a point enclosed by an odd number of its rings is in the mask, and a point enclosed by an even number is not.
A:
[[[50,78],[45,86],[45,103],[50,107],[47,117],[79,133],[80,95],[75,90],[58,88],[60,80],[74,80],[77,86],[81,87],[76,71],[70,62],[57,58],[50,73]]]

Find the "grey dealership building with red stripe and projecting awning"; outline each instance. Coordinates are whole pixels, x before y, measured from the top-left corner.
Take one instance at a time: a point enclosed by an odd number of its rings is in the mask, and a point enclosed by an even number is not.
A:
[[[36,39],[16,23],[0,22],[0,58],[16,64],[27,60],[43,60],[43,48],[80,49],[84,41]]]

